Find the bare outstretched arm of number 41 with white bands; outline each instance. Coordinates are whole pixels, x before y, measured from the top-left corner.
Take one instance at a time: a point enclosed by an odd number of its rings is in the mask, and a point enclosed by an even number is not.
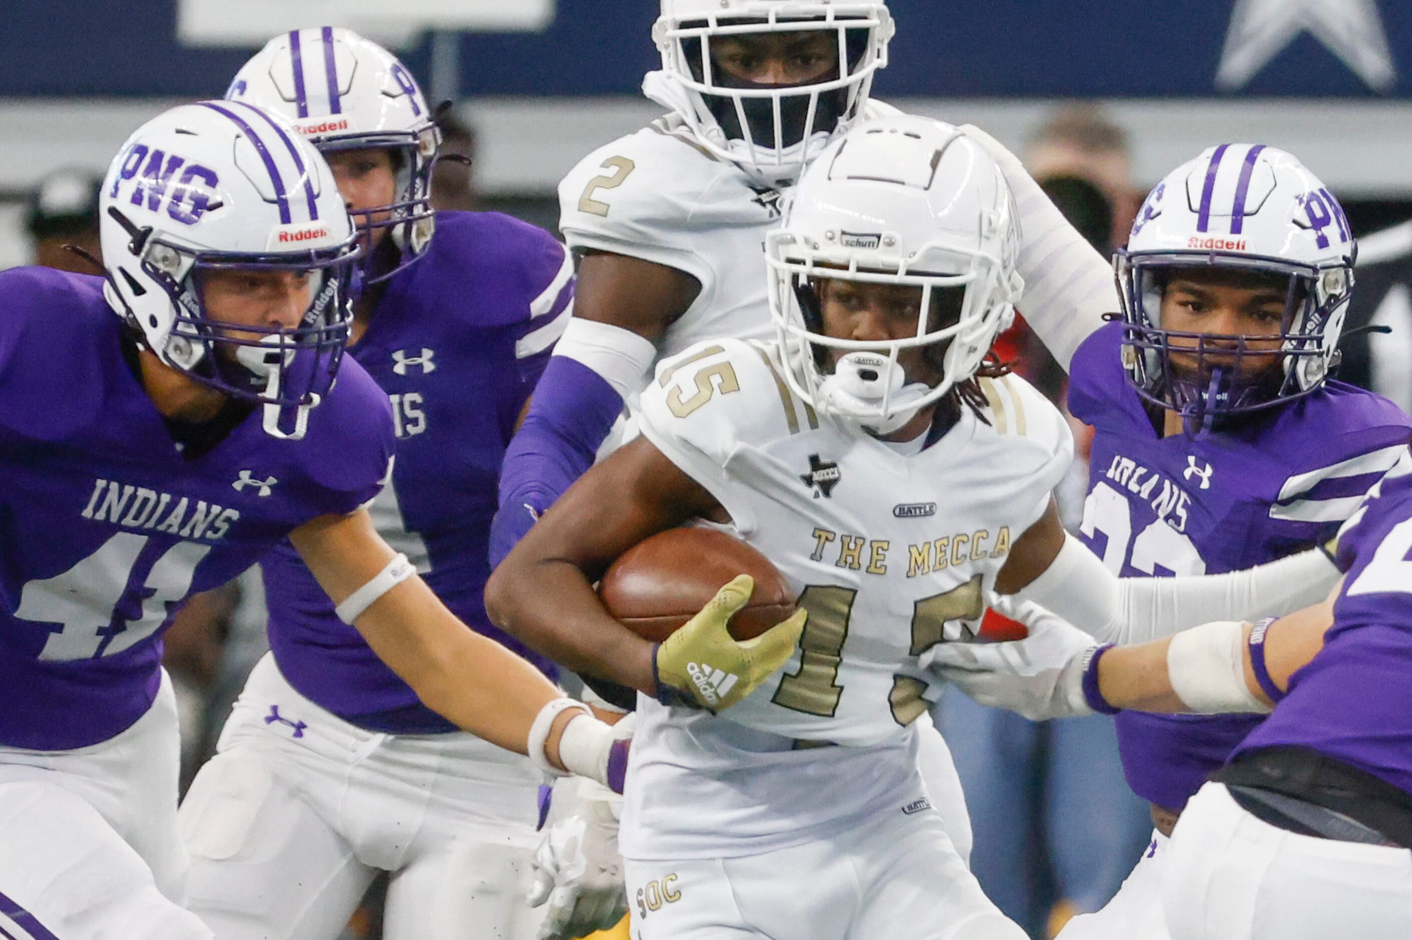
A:
[[[607,782],[613,731],[538,669],[456,618],[366,511],[289,534],[309,572],[426,707],[505,749]]]

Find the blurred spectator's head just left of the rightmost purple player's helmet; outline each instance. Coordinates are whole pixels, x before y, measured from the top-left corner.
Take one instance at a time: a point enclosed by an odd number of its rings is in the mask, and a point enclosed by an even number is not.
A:
[[[1132,185],[1127,131],[1110,121],[1097,106],[1072,104],[1055,112],[1029,140],[1025,167],[1039,182],[1075,176],[1099,186],[1107,198],[1111,222],[1108,231],[1094,244],[1127,244],[1128,229],[1147,193]]]

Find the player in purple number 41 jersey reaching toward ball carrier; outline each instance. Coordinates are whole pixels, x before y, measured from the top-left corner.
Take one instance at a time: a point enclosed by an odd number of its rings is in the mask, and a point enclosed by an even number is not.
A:
[[[0,933],[212,936],[179,906],[161,632],[285,538],[449,721],[603,778],[610,728],[465,629],[363,508],[394,423],[339,368],[357,237],[318,151],[249,104],[172,109],[114,158],[102,241],[104,278],[0,274]]]

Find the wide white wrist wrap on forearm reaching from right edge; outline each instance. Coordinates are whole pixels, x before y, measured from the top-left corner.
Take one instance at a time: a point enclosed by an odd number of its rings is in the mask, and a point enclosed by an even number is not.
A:
[[[1245,624],[1219,620],[1182,631],[1166,648],[1172,692],[1196,714],[1268,714],[1245,683]]]

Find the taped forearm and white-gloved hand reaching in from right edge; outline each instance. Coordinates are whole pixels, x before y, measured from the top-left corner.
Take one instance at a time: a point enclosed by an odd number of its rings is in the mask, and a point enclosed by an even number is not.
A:
[[[1025,639],[939,646],[931,668],[976,701],[1032,720],[1124,709],[1265,713],[1323,648],[1337,593],[1279,620],[1214,621],[1137,646],[1094,644],[1045,615]]]

